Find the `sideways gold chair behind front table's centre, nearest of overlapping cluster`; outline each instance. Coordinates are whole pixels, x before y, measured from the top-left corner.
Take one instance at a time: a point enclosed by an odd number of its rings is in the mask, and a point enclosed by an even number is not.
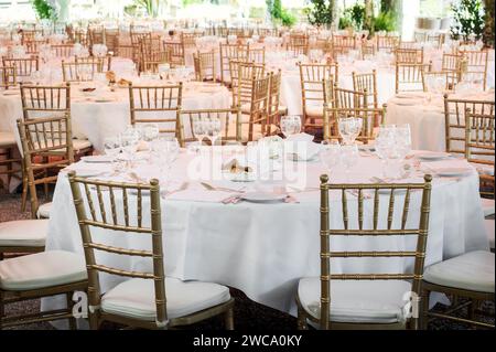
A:
[[[241,141],[250,142],[267,136],[268,127],[268,105],[270,75],[257,78],[255,75],[250,79],[251,95],[248,118],[241,118]],[[242,114],[246,114],[241,109]]]

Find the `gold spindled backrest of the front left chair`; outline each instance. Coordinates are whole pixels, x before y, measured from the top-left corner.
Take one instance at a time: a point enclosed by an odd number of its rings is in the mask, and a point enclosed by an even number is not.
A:
[[[75,172],[69,172],[68,179],[88,270],[89,307],[91,310],[98,310],[100,307],[103,295],[99,285],[100,273],[125,278],[153,280],[157,309],[155,323],[158,328],[166,327],[168,312],[159,181],[152,180],[150,184],[104,182],[78,178]],[[145,214],[149,214],[150,220]],[[98,237],[99,241],[97,242],[96,237],[91,236],[91,230],[94,228],[110,230],[114,231],[114,234],[106,238]],[[117,233],[134,236],[149,235],[151,250],[123,248],[122,245],[119,245],[121,242],[115,241]],[[114,244],[112,241],[117,244]],[[109,242],[110,245],[108,245]],[[152,273],[104,265],[97,260],[100,258],[97,254],[100,253],[147,258],[153,268]]]

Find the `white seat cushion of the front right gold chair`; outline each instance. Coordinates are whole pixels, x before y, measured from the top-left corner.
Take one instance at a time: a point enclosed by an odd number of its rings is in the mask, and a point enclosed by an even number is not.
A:
[[[411,284],[398,280],[332,281],[331,321],[348,323],[396,323],[405,321],[405,295]],[[304,310],[320,319],[321,280],[304,278],[298,287]]]

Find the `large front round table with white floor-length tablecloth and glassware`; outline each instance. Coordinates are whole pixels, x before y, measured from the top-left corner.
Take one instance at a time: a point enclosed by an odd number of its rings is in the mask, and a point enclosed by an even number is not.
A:
[[[222,159],[222,158],[220,158]],[[202,158],[192,152],[182,151],[172,168],[172,185],[169,190],[183,189],[179,184],[187,181],[187,189],[161,200],[162,228],[166,275],[183,280],[203,280],[223,284],[242,290],[250,299],[271,308],[294,313],[294,295],[298,281],[302,277],[320,275],[320,175],[325,172],[319,161],[287,161],[284,170],[292,170],[293,180],[303,184],[300,192],[291,193],[299,203],[249,203],[224,204],[222,201],[233,193],[212,191],[203,188],[202,180],[194,170],[202,164]],[[224,159],[222,159],[224,160]],[[488,241],[484,227],[484,213],[478,194],[478,175],[464,160],[448,159],[421,163],[421,168],[439,170],[446,167],[471,168],[463,178],[438,178],[433,180],[431,216],[425,265],[470,252],[488,250]],[[79,162],[72,167],[79,174],[89,174],[97,170],[110,171],[111,167],[101,163]],[[381,175],[380,160],[370,153],[364,153],[359,162],[351,170],[349,181],[371,182],[371,177]],[[157,178],[157,169],[145,161],[134,167],[139,178]],[[401,182],[423,182],[423,173],[416,171]],[[277,172],[276,172],[277,173]],[[201,173],[204,174],[204,173]],[[298,175],[296,178],[294,178]],[[101,178],[103,175],[100,175]],[[136,177],[136,175],[134,175]],[[108,179],[122,181],[119,177]],[[209,178],[207,178],[209,180]],[[336,168],[331,175],[332,182],[345,181],[345,172]],[[260,186],[266,183],[239,183],[231,181],[209,181],[214,186],[227,186],[240,190]],[[184,184],[184,183],[183,183]],[[258,184],[258,185],[257,185]],[[104,192],[105,194],[105,192]],[[108,195],[105,194],[106,202]],[[121,195],[116,194],[119,199]],[[357,218],[356,196],[349,195],[349,218]],[[402,205],[399,194],[396,204]],[[132,198],[131,198],[132,199]],[[421,192],[412,193],[407,227],[414,226],[419,220]],[[370,226],[374,200],[366,199],[365,224]],[[136,201],[134,201],[136,203]],[[331,227],[342,226],[341,200],[331,194]],[[388,195],[380,195],[379,227],[385,228]],[[144,198],[143,210],[149,209],[149,199]],[[121,207],[118,207],[119,213]],[[129,209],[136,209],[130,203]],[[65,249],[83,254],[80,233],[76,212],[73,206],[69,183],[65,173],[61,173],[55,189],[50,220],[46,249]],[[132,218],[132,216],[131,216]],[[143,224],[150,222],[144,213]],[[393,226],[401,222],[401,209],[395,212]],[[351,221],[351,223],[353,223]],[[334,227],[336,228],[336,227]],[[409,227],[411,228],[411,227]],[[136,249],[150,249],[149,238],[126,235],[96,227],[91,228],[96,238],[104,238],[110,246],[132,246]],[[406,243],[409,243],[408,245]],[[333,238],[336,250],[403,250],[414,245],[414,238],[388,237]],[[388,248],[388,249],[387,249]],[[406,249],[409,250],[409,249]],[[116,257],[99,254],[100,264],[117,265],[128,270],[151,270],[151,262],[143,258]],[[388,259],[346,259],[333,260],[333,273],[403,273],[412,268],[412,262],[405,258]],[[122,281],[116,276],[101,275],[103,292]],[[63,305],[64,299],[45,299],[43,309]]]

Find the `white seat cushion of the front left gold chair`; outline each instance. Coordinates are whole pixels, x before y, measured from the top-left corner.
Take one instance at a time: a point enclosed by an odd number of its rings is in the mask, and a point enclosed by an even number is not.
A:
[[[165,278],[169,319],[185,317],[227,302],[229,289],[209,282],[183,282]],[[153,280],[130,279],[109,290],[101,298],[101,310],[128,318],[155,321],[155,290]]]

